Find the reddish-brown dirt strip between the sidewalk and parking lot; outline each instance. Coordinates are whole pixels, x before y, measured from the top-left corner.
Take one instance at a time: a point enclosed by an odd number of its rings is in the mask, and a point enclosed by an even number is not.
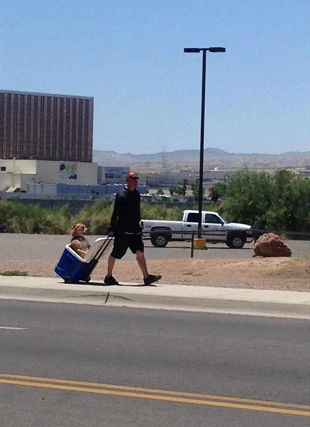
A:
[[[0,274],[7,270],[26,271],[27,276],[58,277],[58,260],[0,261]],[[215,286],[270,290],[310,290],[309,258],[255,257],[252,259],[169,259],[148,260],[148,270],[161,274],[162,284]],[[103,280],[107,261],[99,261],[92,281]],[[137,261],[116,261],[114,277],[120,282],[142,283]]]

